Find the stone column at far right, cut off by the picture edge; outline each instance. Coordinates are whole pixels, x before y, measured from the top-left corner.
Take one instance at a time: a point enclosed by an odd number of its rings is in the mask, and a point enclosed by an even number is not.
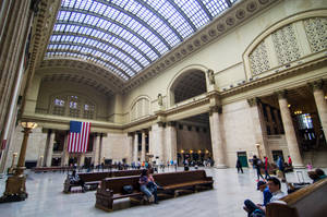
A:
[[[313,94],[318,110],[318,116],[323,126],[325,137],[327,138],[327,101],[325,99],[325,93],[323,89],[323,82],[316,82],[313,84]]]

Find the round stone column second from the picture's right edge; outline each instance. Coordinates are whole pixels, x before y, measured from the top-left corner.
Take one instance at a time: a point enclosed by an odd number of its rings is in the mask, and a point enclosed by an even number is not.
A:
[[[286,92],[278,93],[278,103],[282,119],[282,124],[284,129],[284,136],[288,143],[289,153],[293,161],[294,168],[303,168],[303,161],[299,149],[299,144],[296,141],[296,135],[292,122],[291,112],[288,107],[288,100],[286,98]]]

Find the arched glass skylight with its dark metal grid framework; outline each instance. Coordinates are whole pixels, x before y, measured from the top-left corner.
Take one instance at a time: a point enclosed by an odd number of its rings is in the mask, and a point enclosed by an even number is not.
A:
[[[237,0],[62,0],[46,58],[77,58],[128,81]]]

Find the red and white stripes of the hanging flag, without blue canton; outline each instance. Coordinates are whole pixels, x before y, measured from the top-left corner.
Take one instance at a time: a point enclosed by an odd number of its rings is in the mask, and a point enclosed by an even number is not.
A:
[[[89,134],[89,122],[82,122],[81,133],[70,132],[68,138],[69,153],[86,153]]]

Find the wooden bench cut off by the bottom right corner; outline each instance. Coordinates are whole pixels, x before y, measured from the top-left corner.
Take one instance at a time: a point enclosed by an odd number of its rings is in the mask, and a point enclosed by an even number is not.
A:
[[[300,189],[267,205],[267,217],[327,216],[327,179]]]

